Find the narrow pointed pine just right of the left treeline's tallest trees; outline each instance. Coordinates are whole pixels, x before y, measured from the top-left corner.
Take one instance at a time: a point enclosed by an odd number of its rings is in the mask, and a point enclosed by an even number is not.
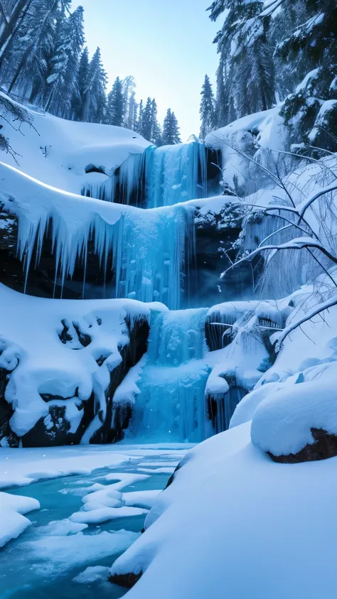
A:
[[[81,120],[90,123],[105,122],[106,87],[107,74],[102,65],[100,48],[97,48],[89,65]]]

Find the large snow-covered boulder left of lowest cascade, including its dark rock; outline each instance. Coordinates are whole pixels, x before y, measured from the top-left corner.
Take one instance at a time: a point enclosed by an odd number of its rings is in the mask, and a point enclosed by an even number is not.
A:
[[[1,445],[122,438],[131,409],[114,406],[114,393],[146,352],[149,306],[33,298],[3,285],[0,305]]]

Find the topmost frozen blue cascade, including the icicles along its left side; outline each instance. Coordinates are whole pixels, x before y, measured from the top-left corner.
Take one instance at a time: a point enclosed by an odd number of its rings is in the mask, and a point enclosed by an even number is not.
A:
[[[196,141],[161,148],[149,146],[143,154],[130,154],[103,183],[87,183],[82,195],[148,208],[205,198],[205,146]]]

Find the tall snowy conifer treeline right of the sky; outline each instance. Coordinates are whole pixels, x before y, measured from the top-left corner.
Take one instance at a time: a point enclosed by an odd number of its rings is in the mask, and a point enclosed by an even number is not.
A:
[[[214,0],[208,11],[223,26],[215,97],[208,77],[202,90],[201,136],[285,100],[291,141],[336,151],[336,0]]]

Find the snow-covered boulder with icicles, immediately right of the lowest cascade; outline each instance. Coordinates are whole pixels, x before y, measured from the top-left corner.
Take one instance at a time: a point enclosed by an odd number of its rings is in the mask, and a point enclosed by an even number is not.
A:
[[[275,361],[271,338],[284,328],[289,311],[287,301],[228,302],[208,311],[206,341],[211,352],[221,354],[205,389],[205,411],[213,433],[229,428],[242,398]]]

